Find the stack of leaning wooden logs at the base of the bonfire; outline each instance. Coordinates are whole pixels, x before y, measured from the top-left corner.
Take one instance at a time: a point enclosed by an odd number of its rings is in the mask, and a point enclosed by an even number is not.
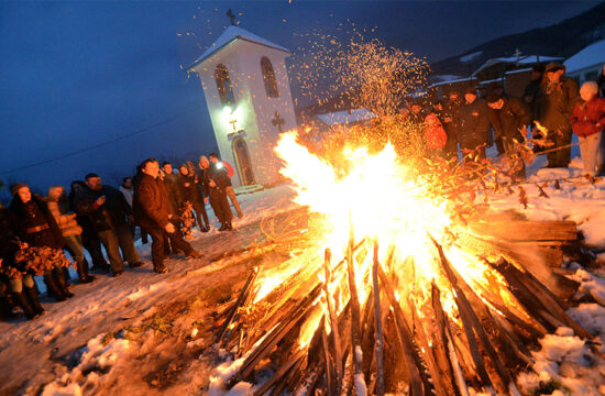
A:
[[[299,268],[253,304],[255,270],[217,334],[222,348],[244,358],[226,386],[255,383],[254,395],[450,396],[469,395],[470,387],[517,395],[514,378],[531,370],[530,351],[539,349],[540,338],[558,327],[592,338],[566,314],[565,304],[579,284],[552,271],[561,266],[563,249],[576,244],[576,238],[573,222],[528,221],[475,222],[459,237],[459,246],[481,252],[482,260],[504,276],[530,317],[521,317],[497,297],[486,304],[435,240],[436,257],[453,290],[457,320],[443,310],[435,282],[421,307],[411,298],[399,299],[393,250],[381,263],[376,241],[355,243],[351,235],[341,262],[331,265],[326,251],[323,265]],[[373,267],[364,280],[370,293],[360,301],[353,257],[372,253]],[[336,279],[332,290],[320,277],[334,282],[336,273],[345,275]],[[333,299],[337,292],[346,297],[340,306]],[[301,329],[318,317],[310,342],[300,345]]]

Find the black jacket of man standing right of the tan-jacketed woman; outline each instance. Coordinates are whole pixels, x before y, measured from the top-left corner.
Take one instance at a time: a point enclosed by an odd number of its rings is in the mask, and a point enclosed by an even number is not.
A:
[[[106,202],[100,207],[96,201],[106,197]],[[95,231],[108,231],[127,226],[127,216],[132,215],[132,208],[128,205],[124,195],[113,187],[102,186],[99,191],[86,187],[74,198],[74,206],[78,216],[87,217]]]

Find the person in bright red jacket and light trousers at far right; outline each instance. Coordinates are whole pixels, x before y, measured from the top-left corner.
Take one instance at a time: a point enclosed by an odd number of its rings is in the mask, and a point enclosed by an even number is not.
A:
[[[604,163],[603,130],[605,129],[605,98],[597,97],[598,86],[586,81],[580,89],[581,101],[575,103],[570,120],[580,141],[584,172],[590,176],[602,173]]]

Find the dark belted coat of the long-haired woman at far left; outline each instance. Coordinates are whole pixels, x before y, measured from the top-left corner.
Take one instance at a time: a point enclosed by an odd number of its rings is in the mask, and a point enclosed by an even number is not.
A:
[[[65,240],[46,202],[36,195],[28,204],[14,197],[10,209],[14,213],[14,232],[30,246],[63,249]]]

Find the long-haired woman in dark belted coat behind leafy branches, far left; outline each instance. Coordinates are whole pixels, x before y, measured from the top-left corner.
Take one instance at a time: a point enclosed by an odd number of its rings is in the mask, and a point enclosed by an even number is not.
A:
[[[14,213],[14,231],[19,239],[32,248],[62,250],[65,240],[46,202],[32,195],[30,187],[22,183],[11,186],[11,194],[13,199],[10,209]],[[67,282],[61,268],[46,271],[44,282],[48,287],[48,294],[54,295],[59,301],[74,296],[67,289]]]

